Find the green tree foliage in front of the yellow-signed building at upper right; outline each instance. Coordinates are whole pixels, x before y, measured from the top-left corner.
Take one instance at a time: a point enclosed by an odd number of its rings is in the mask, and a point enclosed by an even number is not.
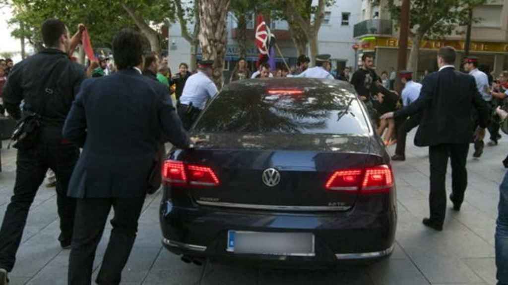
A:
[[[488,0],[411,0],[409,28],[423,38],[442,38],[467,25],[469,8]],[[388,0],[392,18],[400,23],[400,1]],[[473,18],[473,22],[481,21]]]

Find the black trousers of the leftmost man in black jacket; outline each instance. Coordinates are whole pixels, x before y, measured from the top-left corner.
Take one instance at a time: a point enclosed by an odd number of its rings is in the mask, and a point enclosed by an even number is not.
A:
[[[70,241],[74,228],[76,200],[67,197],[72,171],[79,158],[79,149],[62,144],[61,128],[41,130],[39,144],[32,149],[18,150],[14,195],[7,206],[0,229],[0,268],[11,271],[16,261],[28,210],[44,181],[48,168],[56,176],[56,204],[60,217],[60,241]]]

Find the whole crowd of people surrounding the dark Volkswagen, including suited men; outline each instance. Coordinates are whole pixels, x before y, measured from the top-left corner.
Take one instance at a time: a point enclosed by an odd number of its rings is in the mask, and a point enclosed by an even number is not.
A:
[[[18,149],[14,195],[0,229],[0,285],[8,282],[30,205],[48,169],[56,177],[58,240],[62,248],[71,248],[69,284],[90,284],[111,208],[113,229],[96,282],[118,284],[146,194],[161,183],[164,142],[192,148],[186,130],[218,92],[212,81],[213,61],[200,61],[193,73],[180,63],[178,73],[172,74],[168,57],[144,53],[141,34],[131,29],[115,36],[114,64],[109,56],[100,55],[83,68],[72,60],[72,53],[84,29],[78,26],[70,37],[63,22],[47,20],[42,25],[43,51],[16,65],[0,60],[0,115],[5,114],[5,106],[10,116],[22,122],[15,132],[18,135],[13,135]],[[473,156],[479,158],[485,129],[490,132],[489,146],[498,144],[500,129],[508,133],[508,72],[498,80],[489,79],[475,57],[466,58],[465,72],[459,72],[453,66],[456,56],[455,49],[441,48],[438,72],[428,73],[422,83],[415,82],[409,70],[397,73],[392,68],[378,76],[368,54],[353,74],[351,68],[331,72],[328,54],[317,55],[313,67],[302,55],[297,66],[275,70],[262,57],[255,72],[240,59],[230,82],[272,77],[350,82],[377,134],[386,145],[397,144],[395,161],[405,160],[406,135],[419,126],[415,144],[429,147],[431,172],[430,217],[423,224],[441,231],[448,159],[453,171],[450,200],[459,211],[467,187],[469,145],[474,144]],[[397,76],[403,85],[400,94],[394,91]],[[503,163],[508,168],[508,158]],[[508,173],[500,193],[497,278],[499,285],[507,285]]]

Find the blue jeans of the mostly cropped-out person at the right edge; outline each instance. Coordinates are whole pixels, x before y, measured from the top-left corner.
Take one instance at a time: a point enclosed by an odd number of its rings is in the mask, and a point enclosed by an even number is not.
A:
[[[499,187],[496,227],[497,285],[508,285],[508,172]]]

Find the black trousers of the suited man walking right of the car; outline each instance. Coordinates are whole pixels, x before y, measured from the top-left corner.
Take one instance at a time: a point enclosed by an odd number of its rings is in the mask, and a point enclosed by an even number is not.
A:
[[[442,224],[446,215],[446,171],[448,158],[452,161],[452,195],[455,203],[464,201],[467,188],[466,160],[469,144],[442,144],[429,147],[430,161],[430,219]]]

